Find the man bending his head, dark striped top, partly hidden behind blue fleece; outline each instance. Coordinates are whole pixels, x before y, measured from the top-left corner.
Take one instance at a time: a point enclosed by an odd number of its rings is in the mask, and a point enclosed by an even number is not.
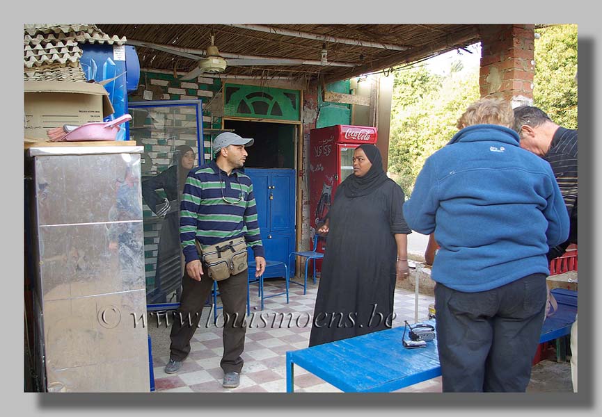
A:
[[[558,126],[544,111],[534,106],[514,109],[514,130],[521,138],[523,149],[550,163],[569,211],[569,238],[556,247],[550,247],[548,260],[551,261],[564,254],[571,243],[577,243],[577,131]]]

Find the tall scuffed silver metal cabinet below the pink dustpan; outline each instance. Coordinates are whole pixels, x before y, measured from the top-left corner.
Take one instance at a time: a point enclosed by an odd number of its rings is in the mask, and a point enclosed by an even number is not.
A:
[[[33,304],[47,391],[150,391],[140,320],[141,152],[132,145],[28,151]]]

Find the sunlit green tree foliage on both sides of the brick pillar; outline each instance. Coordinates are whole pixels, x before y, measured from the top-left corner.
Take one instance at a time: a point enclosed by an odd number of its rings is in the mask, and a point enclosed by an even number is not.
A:
[[[555,123],[577,129],[577,26],[553,25],[536,32],[534,106]],[[409,196],[426,158],[452,138],[460,115],[480,98],[479,69],[463,70],[458,60],[445,76],[424,65],[394,74],[388,170]]]

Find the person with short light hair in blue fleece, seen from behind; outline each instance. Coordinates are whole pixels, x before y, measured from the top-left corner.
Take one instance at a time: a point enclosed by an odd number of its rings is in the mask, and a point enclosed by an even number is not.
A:
[[[521,149],[509,103],[481,99],[427,158],[403,206],[441,246],[431,277],[444,392],[524,392],[546,305],[548,248],[569,216],[550,165]]]

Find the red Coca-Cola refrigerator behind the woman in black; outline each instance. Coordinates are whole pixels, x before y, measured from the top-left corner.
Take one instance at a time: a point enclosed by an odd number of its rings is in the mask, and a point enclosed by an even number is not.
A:
[[[351,160],[354,149],[364,143],[376,145],[377,128],[336,124],[310,131],[311,238],[315,234],[316,224],[326,218],[338,185],[353,175]],[[322,237],[318,239],[318,252],[324,252],[325,243]],[[322,261],[317,261],[316,268],[321,265]]]

